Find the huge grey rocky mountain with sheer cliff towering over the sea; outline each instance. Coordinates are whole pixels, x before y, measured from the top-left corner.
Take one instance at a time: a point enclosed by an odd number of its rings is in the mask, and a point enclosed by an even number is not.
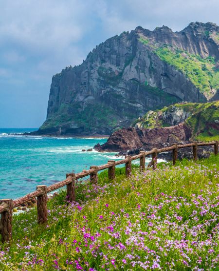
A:
[[[190,23],[175,33],[166,26],[124,32],[53,77],[38,133],[110,134],[151,109],[214,100],[218,61],[219,27],[213,23]]]

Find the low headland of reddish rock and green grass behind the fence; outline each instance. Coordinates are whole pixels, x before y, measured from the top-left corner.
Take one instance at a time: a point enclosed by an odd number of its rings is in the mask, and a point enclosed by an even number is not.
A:
[[[174,104],[149,111],[135,127],[113,132],[98,151],[160,148],[192,140],[219,140],[219,101],[205,104]]]

